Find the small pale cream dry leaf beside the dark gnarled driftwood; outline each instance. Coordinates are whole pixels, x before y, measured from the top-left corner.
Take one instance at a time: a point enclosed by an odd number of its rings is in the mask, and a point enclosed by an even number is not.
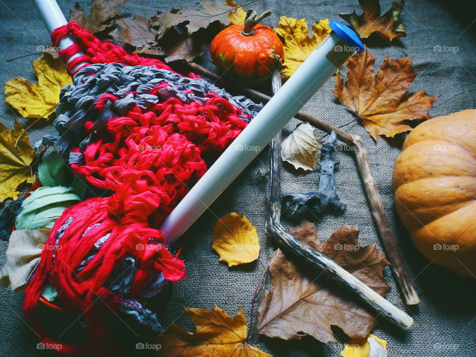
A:
[[[281,143],[281,160],[294,166],[296,170],[312,171],[316,167],[321,143],[314,135],[314,127],[305,122]]]

